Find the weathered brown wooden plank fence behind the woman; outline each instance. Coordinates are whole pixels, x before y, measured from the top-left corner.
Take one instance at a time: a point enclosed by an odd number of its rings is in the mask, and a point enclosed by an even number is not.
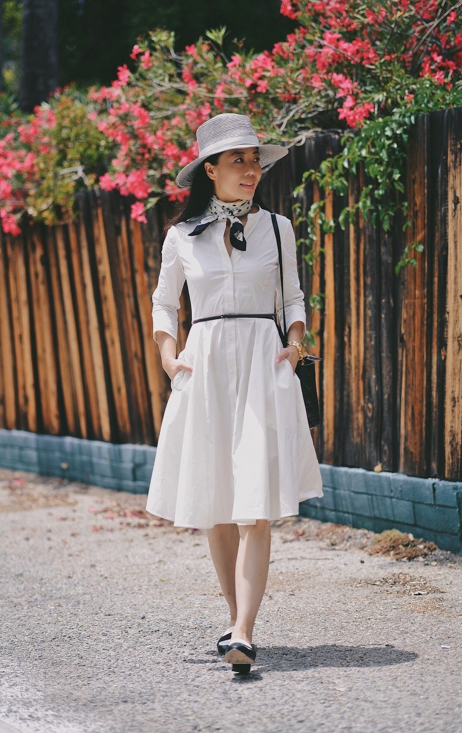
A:
[[[320,133],[261,181],[270,210],[294,219],[302,172],[339,149]],[[324,463],[462,479],[462,108],[424,114],[409,141],[406,198],[413,226],[391,232],[358,215],[321,235],[314,273],[299,247],[308,328],[316,328]],[[351,181],[357,200],[367,181]],[[305,188],[304,206],[324,198]],[[343,199],[327,194],[336,218]],[[0,427],[155,445],[170,380],[152,338],[160,269],[160,202],[148,224],[129,199],[94,189],[76,196],[74,223],[0,234]],[[303,229],[297,229],[297,237]],[[394,271],[404,246],[424,245],[417,269]],[[322,311],[308,295],[326,294]],[[177,350],[190,328],[187,286]]]

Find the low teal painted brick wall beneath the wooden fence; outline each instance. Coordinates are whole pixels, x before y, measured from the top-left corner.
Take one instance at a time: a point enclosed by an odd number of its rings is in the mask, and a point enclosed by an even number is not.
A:
[[[146,494],[155,447],[0,430],[0,465]],[[300,515],[381,532],[400,529],[462,554],[462,482],[321,464],[324,496]]]

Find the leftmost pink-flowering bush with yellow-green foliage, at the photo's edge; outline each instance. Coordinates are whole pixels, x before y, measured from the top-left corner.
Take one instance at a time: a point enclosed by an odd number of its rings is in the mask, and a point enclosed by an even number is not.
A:
[[[18,235],[24,214],[56,224],[73,217],[75,192],[97,183],[113,145],[73,86],[26,117],[0,120],[0,223]]]

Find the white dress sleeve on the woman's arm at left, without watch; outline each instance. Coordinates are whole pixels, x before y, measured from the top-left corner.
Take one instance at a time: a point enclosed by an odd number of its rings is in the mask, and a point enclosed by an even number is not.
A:
[[[159,279],[152,293],[152,334],[156,343],[156,331],[166,331],[175,340],[178,333],[179,298],[186,279],[178,255],[178,236],[171,226],[163,242]]]

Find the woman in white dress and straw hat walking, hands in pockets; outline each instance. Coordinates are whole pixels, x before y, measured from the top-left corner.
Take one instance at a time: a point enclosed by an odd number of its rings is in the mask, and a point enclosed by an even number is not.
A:
[[[262,174],[288,150],[260,145],[250,119],[218,114],[196,133],[199,155],[176,177],[190,188],[168,229],[152,294],[154,340],[171,394],[146,509],[175,526],[206,528],[230,620],[218,650],[234,671],[256,660],[253,626],[267,584],[270,521],[323,496],[302,388],[305,303],[291,221],[277,215],[284,303]],[[192,326],[176,356],[187,281]],[[275,325],[284,305],[288,345]],[[282,312],[280,314],[282,318]]]

